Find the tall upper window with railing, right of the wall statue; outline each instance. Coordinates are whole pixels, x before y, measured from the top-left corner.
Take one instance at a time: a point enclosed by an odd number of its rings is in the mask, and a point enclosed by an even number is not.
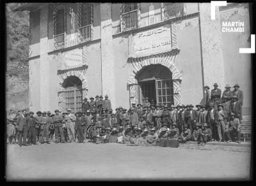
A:
[[[81,11],[78,23],[79,40],[90,41],[92,39],[93,4],[79,3],[78,11]]]

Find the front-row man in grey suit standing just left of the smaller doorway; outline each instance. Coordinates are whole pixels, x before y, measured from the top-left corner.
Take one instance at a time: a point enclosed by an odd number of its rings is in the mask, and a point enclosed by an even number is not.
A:
[[[55,131],[55,142],[56,143],[59,143],[60,140],[59,140],[59,135],[61,136],[61,143],[65,143],[64,141],[64,135],[63,135],[63,124],[62,124],[62,121],[63,121],[63,118],[62,118],[62,115],[60,115],[59,113],[59,110],[54,110],[55,112],[55,115],[54,117],[52,118],[53,119],[53,124],[54,124],[54,131]]]

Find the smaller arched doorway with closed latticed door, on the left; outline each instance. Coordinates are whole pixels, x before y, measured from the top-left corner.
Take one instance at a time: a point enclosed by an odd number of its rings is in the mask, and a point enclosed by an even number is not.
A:
[[[65,88],[65,109],[82,111],[83,92],[82,82],[77,76],[68,76],[62,83]]]

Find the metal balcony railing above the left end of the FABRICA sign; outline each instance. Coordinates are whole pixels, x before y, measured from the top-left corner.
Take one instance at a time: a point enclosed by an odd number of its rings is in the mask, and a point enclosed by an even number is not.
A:
[[[132,10],[121,15],[122,30],[127,31],[138,28],[138,10]]]

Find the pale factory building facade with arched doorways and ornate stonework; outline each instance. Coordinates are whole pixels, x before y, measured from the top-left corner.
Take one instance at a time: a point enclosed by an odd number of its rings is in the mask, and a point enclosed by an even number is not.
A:
[[[81,110],[84,97],[108,94],[112,108],[149,97],[198,104],[202,87],[239,83],[250,115],[252,76],[248,3],[26,3],[29,10],[29,107]],[[223,32],[222,22],[244,23]]]

